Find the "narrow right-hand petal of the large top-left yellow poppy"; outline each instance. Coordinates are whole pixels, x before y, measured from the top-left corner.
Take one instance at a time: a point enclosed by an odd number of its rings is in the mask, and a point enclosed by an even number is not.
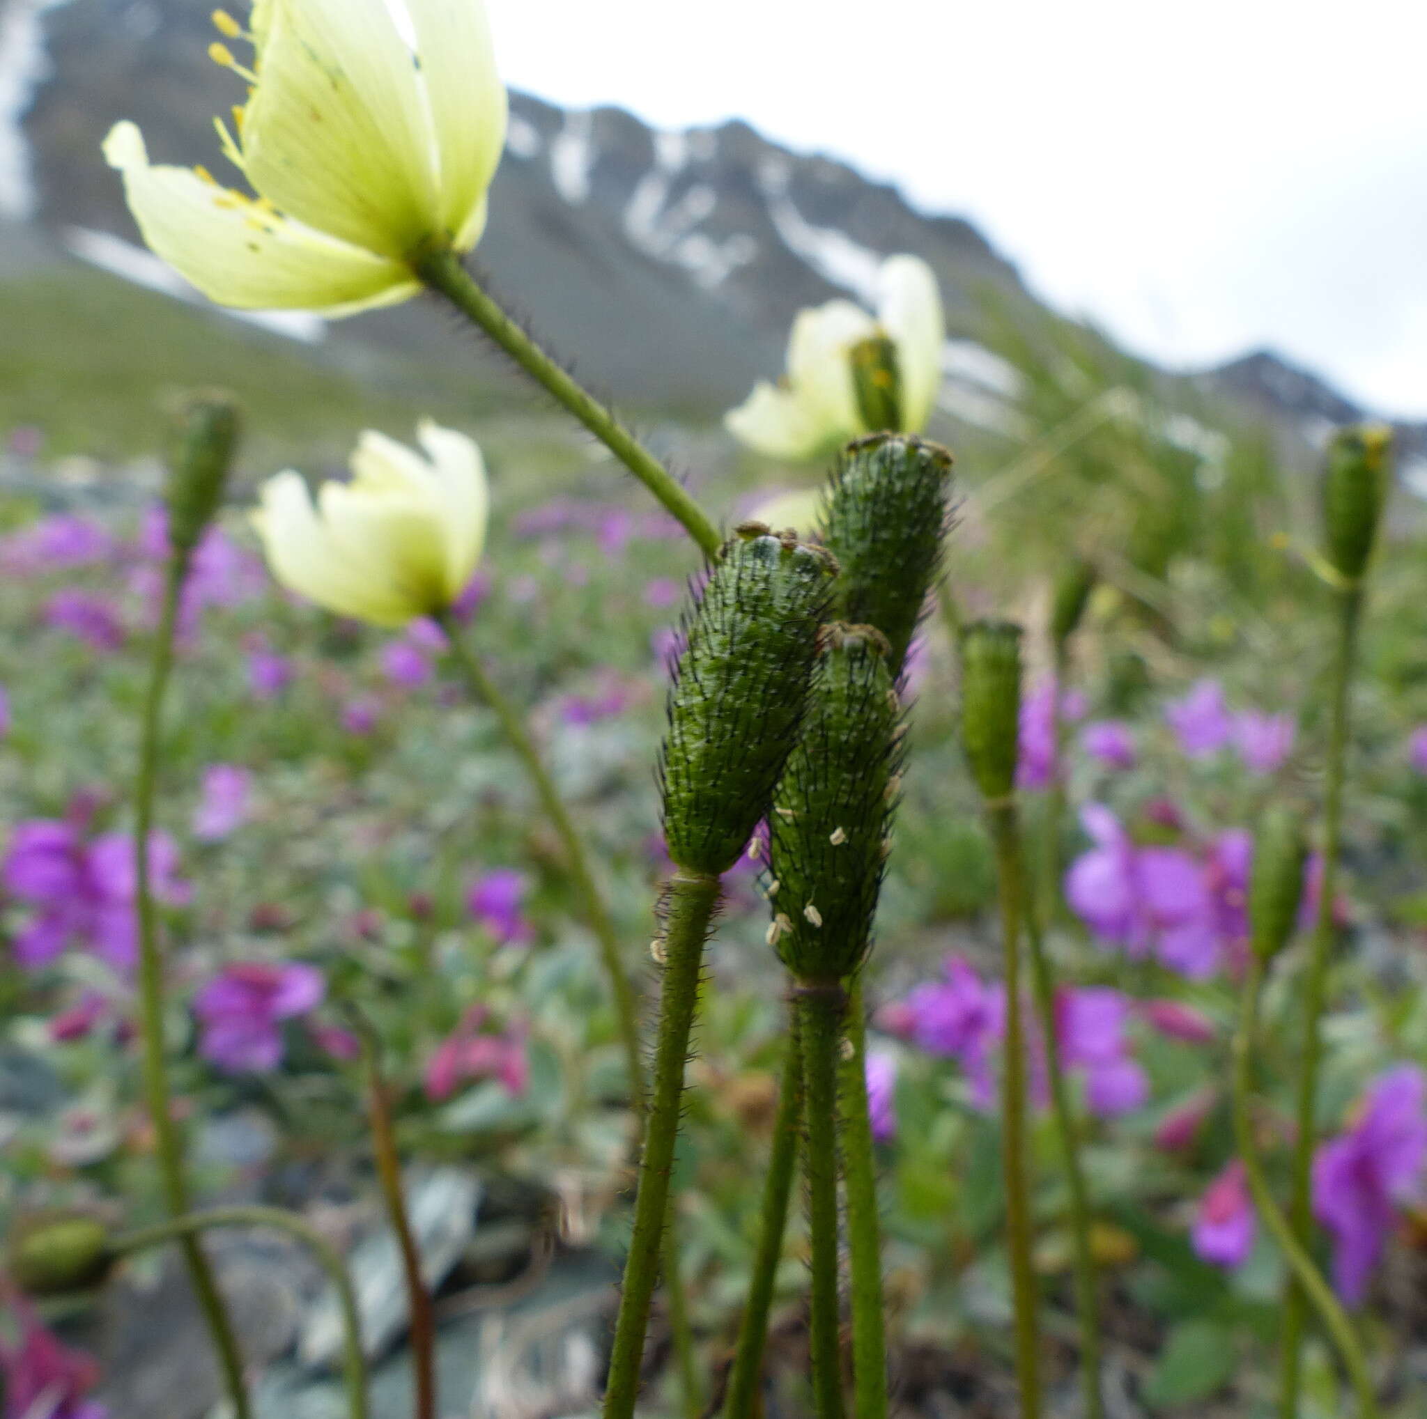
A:
[[[485,190],[505,150],[507,96],[482,0],[407,0],[440,161],[441,217],[457,251],[485,227]]]

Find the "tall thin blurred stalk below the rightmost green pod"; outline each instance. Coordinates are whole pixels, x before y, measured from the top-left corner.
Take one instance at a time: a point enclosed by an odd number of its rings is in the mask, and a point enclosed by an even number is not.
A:
[[[1323,787],[1323,876],[1319,886],[1317,917],[1303,985],[1303,1048],[1299,1064],[1297,1137],[1293,1148],[1293,1184],[1289,1221],[1300,1246],[1313,1241],[1313,1152],[1317,1148],[1319,1072],[1323,1054],[1320,1021],[1327,1004],[1329,967],[1333,958],[1333,901],[1343,840],[1343,780],[1347,767],[1349,719],[1353,667],[1363,592],[1357,585],[1337,589],[1337,646],[1330,687],[1327,764]],[[1283,1296],[1279,1413],[1297,1419],[1301,1388],[1303,1326],[1307,1298],[1293,1275]]]

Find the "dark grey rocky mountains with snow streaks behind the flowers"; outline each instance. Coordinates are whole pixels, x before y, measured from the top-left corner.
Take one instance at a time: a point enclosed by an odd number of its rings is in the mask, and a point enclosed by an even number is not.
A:
[[[160,161],[218,164],[211,116],[240,83],[205,57],[207,0],[7,0],[0,11],[0,215],[168,295],[181,285],[137,247],[98,144],[136,118]],[[231,90],[231,91],[230,91]],[[33,231],[27,237],[33,252]],[[0,274],[6,265],[0,234]],[[743,123],[658,133],[615,108],[512,97],[507,157],[478,262],[492,288],[616,399],[711,415],[775,374],[789,321],[833,295],[865,298],[880,258],[936,270],[953,339],[952,412],[992,424],[1013,372],[982,347],[1037,304],[968,222],[912,208],[888,185],[769,143]],[[275,322],[311,358],[378,371],[445,361],[464,339],[412,308],[323,327]],[[489,358],[489,357],[488,357]],[[495,365],[489,365],[494,376]],[[1173,381],[1172,384],[1177,384]],[[1363,411],[1269,352],[1209,371],[1186,394],[1266,415],[1293,442]],[[1427,452],[1427,426],[1404,429]]]

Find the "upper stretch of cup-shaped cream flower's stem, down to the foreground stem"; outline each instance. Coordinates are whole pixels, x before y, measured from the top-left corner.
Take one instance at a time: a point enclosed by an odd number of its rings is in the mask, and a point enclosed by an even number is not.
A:
[[[441,625],[451,645],[451,653],[461,666],[467,683],[475,692],[475,696],[489,706],[499,720],[501,732],[505,734],[511,749],[515,750],[515,756],[521,760],[531,786],[535,789],[535,796],[539,799],[541,809],[545,817],[549,819],[551,827],[555,829],[555,836],[559,839],[559,846],[565,854],[565,866],[575,884],[581,908],[599,946],[605,978],[615,1003],[615,1021],[619,1030],[619,1043],[624,1048],[625,1068],[629,1074],[629,1092],[638,1105],[644,1095],[644,1057],[639,1052],[639,1005],[635,1000],[634,985],[629,983],[629,973],[625,970],[624,956],[619,948],[619,934],[615,930],[609,908],[605,906],[605,898],[595,881],[589,857],[585,853],[585,844],[569,817],[564,799],[559,796],[559,789],[555,787],[555,780],[551,779],[541,760],[535,740],[531,739],[529,730],[525,727],[525,717],[487,673],[479,656],[475,655],[461,635],[461,627],[455,618],[448,613],[441,618]]]

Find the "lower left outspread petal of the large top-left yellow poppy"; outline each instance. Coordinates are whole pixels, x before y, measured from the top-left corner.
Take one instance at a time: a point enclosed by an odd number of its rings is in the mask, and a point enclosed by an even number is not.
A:
[[[151,165],[131,123],[114,125],[104,157],[123,174],[148,247],[220,305],[351,315],[418,290],[400,262],[287,221],[188,168]]]

